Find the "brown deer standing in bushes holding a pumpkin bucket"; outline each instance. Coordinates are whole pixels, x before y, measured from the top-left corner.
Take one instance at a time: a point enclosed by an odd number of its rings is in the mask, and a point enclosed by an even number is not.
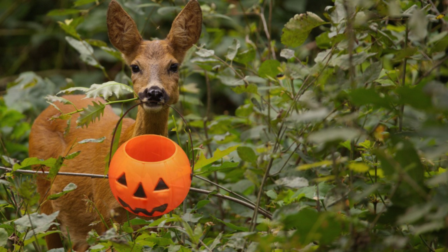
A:
[[[143,134],[168,135],[169,107],[179,98],[179,67],[190,49],[201,35],[202,10],[197,0],[190,0],[172,22],[171,30],[163,40],[144,40],[137,25],[116,0],[111,0],[107,11],[109,40],[121,52],[125,63],[132,72],[133,89],[138,96],[135,120],[125,118],[122,122],[119,145]],[[93,101],[105,101],[102,98],[86,98],[83,95],[66,95],[76,107],[87,107]],[[151,101],[151,103],[147,103]],[[159,103],[160,102],[160,103]],[[72,105],[55,103],[62,113],[74,110]],[[65,156],[68,152],[80,151],[78,157],[65,160],[60,171],[104,174],[105,158],[109,153],[112,131],[119,116],[112,107],[104,109],[100,120],[87,128],[77,128],[77,114],[72,116],[69,133],[64,135],[65,120],[48,120],[60,113],[56,108],[47,107],[34,121],[29,139],[29,155],[42,159]],[[102,143],[74,145],[76,141],[87,138],[106,137]],[[35,168],[35,167],[34,167]],[[43,170],[48,170],[44,167]],[[78,188],[57,200],[46,200],[48,195],[61,192],[70,182]],[[98,234],[107,231],[99,222],[99,214],[105,220],[113,218],[118,223],[128,220],[126,210],[115,200],[107,179],[86,177],[56,176],[53,181],[45,175],[36,176],[37,192],[40,194],[39,211],[52,214],[59,211],[57,222],[64,235],[70,236],[73,251],[86,251],[88,232],[94,229]],[[89,211],[85,198],[91,200],[98,210]],[[111,213],[114,213],[113,216]],[[129,213],[129,215],[132,215]],[[134,216],[135,217],[135,216]],[[89,226],[92,223],[93,226]],[[53,226],[54,228],[55,226]],[[50,228],[51,229],[51,228]],[[48,249],[62,248],[63,241],[59,233],[45,236]]]

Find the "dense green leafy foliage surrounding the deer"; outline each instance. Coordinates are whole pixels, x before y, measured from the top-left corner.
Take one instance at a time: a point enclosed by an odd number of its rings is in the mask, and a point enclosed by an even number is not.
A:
[[[445,251],[446,5],[335,0],[327,7],[303,1],[318,9],[301,9],[294,0],[200,3],[204,29],[181,69],[177,105],[195,149],[185,143],[181,119],[169,126],[170,137],[195,158],[196,174],[214,182],[195,178],[192,186],[211,192],[190,192],[185,212],[115,223],[104,234],[92,231],[90,251]],[[7,4],[0,7],[23,10]],[[165,25],[148,27],[171,22],[181,3],[124,5],[148,38],[168,32]],[[45,17],[46,25],[60,27],[58,43],[64,45],[51,59],[56,69],[73,60],[89,74],[80,78],[76,68],[68,79],[62,71],[45,78],[38,74],[42,69],[19,73],[16,64],[4,64],[7,59],[1,66],[18,74],[0,100],[2,162],[13,169],[46,165],[51,176],[77,154],[26,158],[30,124],[46,106],[43,97],[64,102],[54,95],[64,90],[101,95],[106,104],[134,100],[126,86],[129,71],[104,35],[106,4],[76,0],[62,7]],[[25,18],[4,13],[0,24],[6,18],[9,29]],[[82,113],[78,125],[94,123],[104,106],[73,107]],[[123,106],[116,109],[129,105]],[[52,120],[70,120],[73,113]],[[57,213],[38,214],[30,178],[5,172],[0,179],[0,251],[42,251],[43,236],[60,232],[46,231]],[[69,184],[48,198],[72,190],[76,185]]]

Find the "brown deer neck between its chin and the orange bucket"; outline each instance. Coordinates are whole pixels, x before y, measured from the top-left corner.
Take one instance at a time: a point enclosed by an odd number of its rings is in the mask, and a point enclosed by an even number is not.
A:
[[[153,134],[166,137],[168,135],[169,108],[162,108],[157,112],[147,112],[141,106],[138,107],[137,118],[125,131],[124,140],[140,135]]]

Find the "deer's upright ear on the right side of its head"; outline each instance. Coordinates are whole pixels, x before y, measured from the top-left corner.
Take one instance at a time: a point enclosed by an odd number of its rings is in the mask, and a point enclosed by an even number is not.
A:
[[[167,36],[175,57],[183,59],[185,52],[198,42],[202,31],[202,10],[198,0],[190,0],[172,22]]]

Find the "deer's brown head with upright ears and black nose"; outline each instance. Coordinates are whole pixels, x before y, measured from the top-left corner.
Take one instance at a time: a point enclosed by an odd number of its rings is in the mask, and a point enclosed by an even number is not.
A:
[[[190,0],[177,15],[164,40],[143,40],[128,13],[112,0],[107,13],[109,39],[132,71],[134,91],[146,113],[163,108],[157,102],[177,103],[179,67],[185,52],[196,43],[202,30],[202,11],[197,0]]]

